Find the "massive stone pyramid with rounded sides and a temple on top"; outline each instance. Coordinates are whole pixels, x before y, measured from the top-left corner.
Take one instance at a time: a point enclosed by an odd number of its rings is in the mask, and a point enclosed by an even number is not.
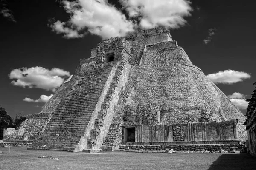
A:
[[[29,149],[74,152],[119,144],[232,144],[247,139],[244,121],[169,30],[153,28],[100,42],[18,133],[33,140]]]

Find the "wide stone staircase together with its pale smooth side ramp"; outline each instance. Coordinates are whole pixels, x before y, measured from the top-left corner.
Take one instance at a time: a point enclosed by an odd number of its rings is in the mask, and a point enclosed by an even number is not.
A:
[[[96,142],[99,146],[104,133],[108,132],[108,129],[104,130],[109,127],[105,120],[111,119],[111,116],[107,116],[111,103],[107,96],[114,93],[115,83],[111,82],[118,82],[119,71],[122,68],[119,63],[108,62],[94,69],[79,65],[71,79],[70,88],[61,99],[44,133],[28,149],[79,152],[87,147],[89,136],[92,138],[88,143],[98,139],[93,138],[93,134],[99,136],[97,130],[100,130],[102,138]],[[109,124],[110,122],[111,120]]]

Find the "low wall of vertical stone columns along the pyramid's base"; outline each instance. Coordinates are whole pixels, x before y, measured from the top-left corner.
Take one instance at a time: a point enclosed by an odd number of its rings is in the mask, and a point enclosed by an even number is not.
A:
[[[240,142],[236,120],[225,122],[187,123],[181,125],[123,124],[123,141],[127,141],[127,129],[134,128],[135,143],[159,143],[175,141]],[[133,143],[133,142],[131,142]]]

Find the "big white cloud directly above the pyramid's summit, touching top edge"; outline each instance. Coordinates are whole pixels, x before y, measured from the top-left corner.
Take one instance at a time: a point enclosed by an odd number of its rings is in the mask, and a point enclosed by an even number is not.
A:
[[[192,7],[187,0],[119,0],[130,19],[138,20],[140,28],[157,26],[180,28],[185,25],[183,17],[190,16]]]

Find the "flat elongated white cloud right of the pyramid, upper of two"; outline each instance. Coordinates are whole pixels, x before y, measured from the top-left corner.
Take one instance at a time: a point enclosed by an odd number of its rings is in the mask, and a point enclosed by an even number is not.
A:
[[[207,77],[212,80],[215,84],[234,84],[241,82],[244,79],[249,79],[251,76],[243,71],[224,70],[218,73],[208,74]]]

